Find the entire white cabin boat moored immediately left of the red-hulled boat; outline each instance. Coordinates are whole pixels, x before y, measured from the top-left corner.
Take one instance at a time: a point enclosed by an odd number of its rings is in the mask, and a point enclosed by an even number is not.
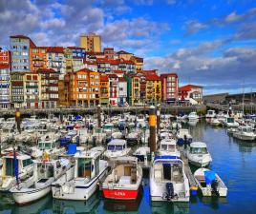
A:
[[[100,160],[99,151],[76,152],[74,157],[74,177],[66,182],[59,179],[52,184],[55,199],[87,201],[108,172],[108,163]]]

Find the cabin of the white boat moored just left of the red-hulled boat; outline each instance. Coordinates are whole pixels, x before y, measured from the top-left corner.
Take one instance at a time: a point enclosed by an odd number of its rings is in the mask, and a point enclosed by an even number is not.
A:
[[[75,154],[75,178],[95,178],[99,173],[98,151],[82,151]]]

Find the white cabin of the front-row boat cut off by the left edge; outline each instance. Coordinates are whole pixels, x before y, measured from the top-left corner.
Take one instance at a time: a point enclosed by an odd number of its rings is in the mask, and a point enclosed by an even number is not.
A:
[[[32,158],[29,155],[19,154],[16,152],[16,160],[18,161],[18,171],[33,165]],[[14,176],[14,157],[13,152],[3,157],[2,176]]]

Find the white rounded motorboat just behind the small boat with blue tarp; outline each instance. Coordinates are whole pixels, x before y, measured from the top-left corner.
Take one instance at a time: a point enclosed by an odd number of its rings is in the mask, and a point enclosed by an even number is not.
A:
[[[191,143],[187,149],[186,155],[189,163],[199,167],[209,165],[212,162],[207,146],[203,142]]]

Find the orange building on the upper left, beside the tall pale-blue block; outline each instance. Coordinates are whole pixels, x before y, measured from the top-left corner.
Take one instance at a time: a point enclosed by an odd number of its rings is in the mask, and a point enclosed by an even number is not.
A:
[[[46,47],[32,47],[30,49],[31,72],[38,68],[47,68]]]

